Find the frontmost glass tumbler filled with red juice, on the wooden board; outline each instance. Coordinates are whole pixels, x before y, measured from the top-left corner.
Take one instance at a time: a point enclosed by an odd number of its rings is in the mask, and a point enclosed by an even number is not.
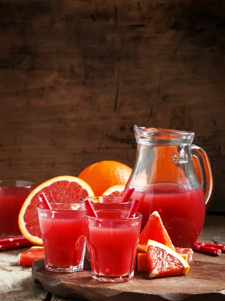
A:
[[[128,211],[96,211],[86,215],[92,278],[125,282],[133,278],[142,215],[127,218]]]

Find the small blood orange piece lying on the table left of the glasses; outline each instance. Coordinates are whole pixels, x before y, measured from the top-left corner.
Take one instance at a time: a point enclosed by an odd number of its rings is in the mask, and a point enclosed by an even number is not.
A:
[[[43,247],[32,247],[27,251],[18,254],[18,265],[31,266],[34,260],[43,257]]]

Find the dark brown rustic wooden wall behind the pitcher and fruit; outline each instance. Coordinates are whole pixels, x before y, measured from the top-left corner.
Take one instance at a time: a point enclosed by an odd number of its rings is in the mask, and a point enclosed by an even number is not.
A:
[[[132,167],[133,125],[192,130],[225,212],[225,2],[0,0],[0,178]]]

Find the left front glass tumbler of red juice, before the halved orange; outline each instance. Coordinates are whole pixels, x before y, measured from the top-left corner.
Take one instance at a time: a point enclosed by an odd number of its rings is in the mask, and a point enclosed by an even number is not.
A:
[[[79,203],[50,203],[52,210],[37,206],[43,240],[45,269],[76,272],[83,269],[87,224]]]

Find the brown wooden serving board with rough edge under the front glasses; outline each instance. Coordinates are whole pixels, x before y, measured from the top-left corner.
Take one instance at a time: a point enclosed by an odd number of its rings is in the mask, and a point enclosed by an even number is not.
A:
[[[148,279],[147,273],[135,273],[124,283],[100,283],[91,278],[90,268],[74,273],[54,273],[44,269],[43,259],[32,266],[32,279],[44,289],[63,297],[91,301],[224,301],[225,254],[220,257],[194,253],[185,276]]]

